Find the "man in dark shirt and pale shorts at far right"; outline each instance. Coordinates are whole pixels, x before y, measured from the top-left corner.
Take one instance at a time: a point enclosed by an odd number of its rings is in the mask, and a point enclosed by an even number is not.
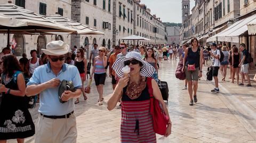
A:
[[[239,83],[239,86],[244,86],[244,75],[247,78],[248,85],[247,87],[251,87],[251,81],[249,77],[249,63],[247,62],[247,56],[248,56],[248,51],[245,49],[245,44],[240,44],[239,45],[239,50],[242,52],[242,60],[239,63],[239,67],[241,67],[241,77],[242,77],[242,83]]]

